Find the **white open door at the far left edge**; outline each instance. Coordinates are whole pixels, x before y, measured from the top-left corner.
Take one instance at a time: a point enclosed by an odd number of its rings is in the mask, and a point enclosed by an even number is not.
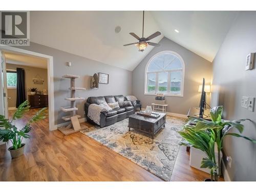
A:
[[[1,65],[0,65],[0,114],[5,115],[5,118],[8,118],[8,95],[7,95],[7,78],[6,78],[6,63],[5,63],[5,54],[3,51],[0,51]]]

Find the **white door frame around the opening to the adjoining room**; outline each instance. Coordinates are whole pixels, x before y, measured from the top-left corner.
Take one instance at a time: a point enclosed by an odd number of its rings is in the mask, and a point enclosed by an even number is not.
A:
[[[47,74],[48,74],[48,108],[49,108],[49,130],[55,130],[54,127],[54,83],[53,83],[53,56],[36,53],[15,47],[0,45],[0,50],[14,52],[25,55],[32,55],[47,59]]]

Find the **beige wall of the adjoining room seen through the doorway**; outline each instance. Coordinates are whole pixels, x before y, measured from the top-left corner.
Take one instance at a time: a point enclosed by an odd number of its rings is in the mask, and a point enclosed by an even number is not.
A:
[[[28,88],[35,87],[39,91],[42,91],[43,89],[48,90],[48,80],[47,80],[47,69],[41,69],[41,68],[34,68],[34,67],[28,67],[28,66],[19,66],[19,65],[13,65],[13,64],[6,64],[7,69],[16,69],[16,68],[23,68],[25,69],[25,83],[26,83],[26,98],[28,98],[28,95],[30,94],[27,92]],[[34,84],[33,78],[39,74],[41,78],[44,78],[45,81],[43,84]],[[8,97],[8,108],[13,108],[16,106],[16,89],[8,89],[7,91]]]

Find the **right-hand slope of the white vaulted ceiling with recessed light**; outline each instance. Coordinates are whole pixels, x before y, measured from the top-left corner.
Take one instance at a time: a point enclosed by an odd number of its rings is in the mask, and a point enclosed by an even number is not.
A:
[[[152,11],[160,31],[177,44],[212,61],[238,11]],[[176,33],[174,29],[180,32]]]

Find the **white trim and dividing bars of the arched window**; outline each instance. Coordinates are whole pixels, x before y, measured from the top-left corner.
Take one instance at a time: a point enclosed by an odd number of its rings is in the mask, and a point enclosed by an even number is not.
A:
[[[181,61],[181,65],[182,65],[182,70],[181,69],[177,69],[177,70],[166,70],[166,71],[164,71],[164,72],[168,72],[168,78],[170,78],[169,76],[170,76],[170,71],[182,71],[182,77],[181,77],[181,79],[182,79],[182,82],[181,82],[181,92],[180,92],[180,94],[170,94],[170,93],[168,93],[168,94],[164,94],[164,96],[173,96],[173,97],[183,97],[183,91],[184,91],[184,77],[185,77],[185,64],[184,64],[184,60],[183,60],[183,58],[178,54],[178,53],[176,53],[176,52],[174,52],[174,51],[160,51],[160,52],[158,52],[158,53],[156,53],[155,55],[153,55],[151,58],[150,58],[150,60],[148,60],[148,62],[147,62],[147,64],[146,64],[146,67],[145,67],[145,72],[144,72],[144,95],[157,95],[157,90],[158,90],[158,78],[157,78],[157,74],[159,73],[159,72],[163,72],[163,71],[154,71],[154,72],[147,72],[147,69],[148,69],[148,66],[150,66],[150,63],[151,63],[151,61],[155,58],[155,57],[157,57],[158,55],[160,55],[160,54],[163,54],[163,53],[170,53],[170,54],[174,54],[175,56],[177,56],[179,59],[180,59],[180,61]],[[156,93],[147,93],[147,74],[148,73],[156,73]],[[168,84],[169,84],[170,82],[169,82],[169,79],[168,79]],[[169,85],[168,85],[169,86]],[[168,88],[168,90],[169,90],[169,88]]]

